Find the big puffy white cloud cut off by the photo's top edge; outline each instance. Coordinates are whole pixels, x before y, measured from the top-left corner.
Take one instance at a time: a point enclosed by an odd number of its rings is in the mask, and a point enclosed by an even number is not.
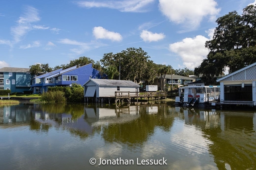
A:
[[[171,22],[195,29],[200,25],[203,17],[210,20],[220,12],[215,0],[159,0],[159,10]]]

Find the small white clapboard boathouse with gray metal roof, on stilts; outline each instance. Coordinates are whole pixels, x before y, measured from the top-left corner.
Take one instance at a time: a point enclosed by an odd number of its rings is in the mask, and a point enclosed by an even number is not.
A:
[[[139,92],[139,85],[127,80],[89,79],[84,86],[84,97],[109,98],[115,92]]]

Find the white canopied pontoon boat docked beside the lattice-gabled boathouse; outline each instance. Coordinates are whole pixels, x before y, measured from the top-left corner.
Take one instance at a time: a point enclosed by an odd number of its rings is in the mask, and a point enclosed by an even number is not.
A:
[[[179,88],[179,96],[175,98],[175,106],[198,107],[217,102],[220,86],[189,85]],[[215,105],[215,104],[212,104]]]

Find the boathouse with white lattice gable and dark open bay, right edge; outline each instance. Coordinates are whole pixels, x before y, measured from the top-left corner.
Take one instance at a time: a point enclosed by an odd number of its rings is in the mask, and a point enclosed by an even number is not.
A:
[[[256,105],[256,63],[217,80],[221,104]]]

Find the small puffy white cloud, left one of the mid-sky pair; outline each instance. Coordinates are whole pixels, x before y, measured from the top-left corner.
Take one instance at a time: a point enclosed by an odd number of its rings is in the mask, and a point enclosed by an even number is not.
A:
[[[121,41],[123,38],[118,32],[111,32],[101,26],[93,28],[93,35],[96,39],[109,39],[112,41]]]

